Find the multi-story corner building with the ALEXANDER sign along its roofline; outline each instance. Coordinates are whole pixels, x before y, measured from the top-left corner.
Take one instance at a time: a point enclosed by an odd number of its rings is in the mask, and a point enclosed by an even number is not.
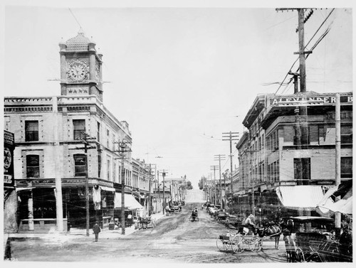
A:
[[[236,145],[240,171],[234,195],[242,213],[298,213],[300,200],[315,205],[335,185],[335,95],[256,97],[243,122],[248,132]],[[341,180],[345,181],[352,178],[352,92],[340,93],[340,107]],[[299,115],[300,109],[307,115]]]

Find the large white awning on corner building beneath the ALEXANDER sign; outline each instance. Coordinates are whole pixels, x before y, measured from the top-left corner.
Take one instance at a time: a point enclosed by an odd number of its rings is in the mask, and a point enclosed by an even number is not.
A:
[[[315,210],[324,196],[321,186],[279,186],[276,193],[286,208],[303,210]]]

